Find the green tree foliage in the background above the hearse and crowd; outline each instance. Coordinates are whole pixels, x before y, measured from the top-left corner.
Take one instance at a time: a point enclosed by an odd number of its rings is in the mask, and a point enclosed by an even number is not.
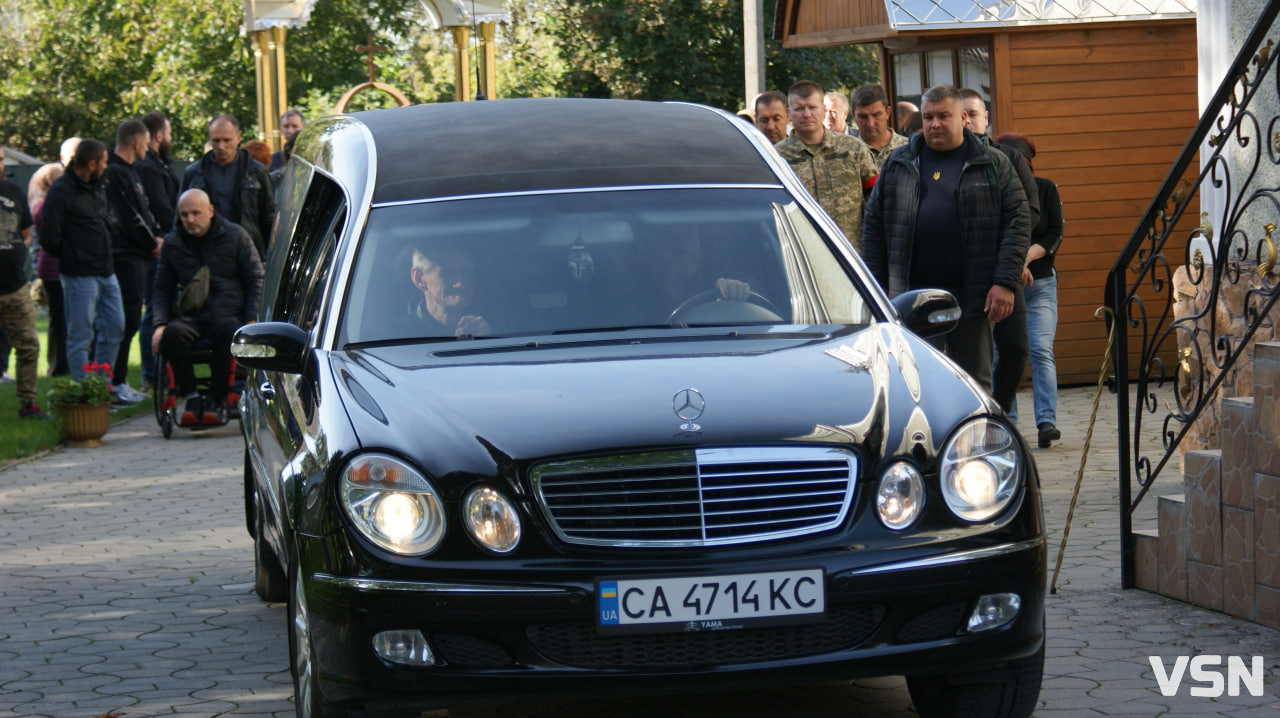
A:
[[[765,3],[772,27],[773,3]],[[553,95],[742,104],[741,0],[509,0],[499,27],[499,97]],[[151,110],[173,122],[174,155],[196,156],[209,120],[234,114],[255,134],[251,38],[242,0],[0,0],[0,142],[55,157],[67,137],[109,145],[125,118]],[[429,31],[420,0],[317,0],[287,35],[291,104],[332,111],[367,79],[357,45],[392,47],[380,79],[415,102],[453,99],[453,38]],[[475,68],[475,46],[472,54]],[[865,47],[782,50],[767,44],[771,87],[797,79],[851,88],[876,78]],[[388,106],[367,92],[352,110]]]

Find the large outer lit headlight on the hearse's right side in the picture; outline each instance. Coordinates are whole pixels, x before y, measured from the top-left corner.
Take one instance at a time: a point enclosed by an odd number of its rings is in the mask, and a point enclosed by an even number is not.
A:
[[[989,419],[970,421],[947,443],[938,466],[947,508],[965,521],[996,516],[1018,493],[1019,462],[1009,429]]]

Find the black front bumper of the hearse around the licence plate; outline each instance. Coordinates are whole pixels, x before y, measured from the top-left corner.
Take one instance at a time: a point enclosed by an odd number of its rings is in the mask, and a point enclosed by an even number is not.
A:
[[[594,582],[554,568],[536,585],[490,576],[394,581],[316,568],[305,585],[323,694],[372,710],[549,694],[954,676],[997,669],[1043,645],[1043,538],[870,567],[846,562],[847,553],[818,561],[827,577],[822,622],[718,632],[603,636],[594,623]],[[1016,618],[966,632],[977,599],[997,593],[1021,598]],[[406,667],[379,658],[372,639],[388,630],[421,631],[438,664]]]

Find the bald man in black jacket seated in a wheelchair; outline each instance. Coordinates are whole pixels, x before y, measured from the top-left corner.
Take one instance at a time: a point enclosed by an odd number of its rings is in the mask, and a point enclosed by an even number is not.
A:
[[[257,316],[262,262],[248,233],[219,216],[202,189],[182,193],[178,220],[160,250],[151,349],[169,362],[173,392],[186,399],[178,424],[218,425],[225,422],[232,335]],[[207,283],[197,278],[201,267],[209,267]],[[205,397],[197,393],[192,365],[192,347],[202,338],[211,343],[211,389]]]

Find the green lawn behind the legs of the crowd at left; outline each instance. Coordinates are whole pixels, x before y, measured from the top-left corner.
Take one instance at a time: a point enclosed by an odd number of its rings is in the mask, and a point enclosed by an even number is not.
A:
[[[54,407],[49,406],[46,397],[46,392],[52,384],[52,379],[47,376],[49,366],[45,363],[45,344],[49,340],[47,328],[49,319],[40,315],[36,319],[36,333],[40,334],[40,379],[36,381],[36,403],[52,417],[52,421],[18,419],[17,387],[14,384],[0,385],[0,463],[42,452],[63,442],[61,417],[58,416]],[[17,360],[10,353],[9,366],[5,369],[9,376],[14,375],[15,365]],[[141,355],[138,353],[138,340],[134,338],[129,352],[129,384],[134,388],[140,383],[140,366]],[[115,424],[150,411],[152,411],[151,399],[132,407],[118,407],[111,412],[111,422]]]

